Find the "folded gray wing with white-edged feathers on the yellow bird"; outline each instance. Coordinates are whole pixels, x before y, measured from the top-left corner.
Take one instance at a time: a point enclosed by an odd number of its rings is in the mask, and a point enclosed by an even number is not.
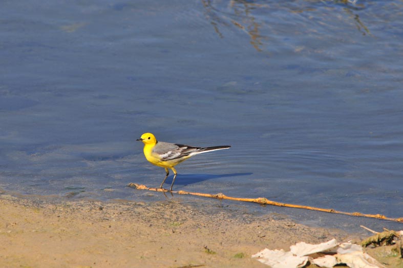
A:
[[[156,146],[153,148],[153,153],[159,154],[161,161],[167,161],[188,156],[199,149],[200,147],[158,141]]]

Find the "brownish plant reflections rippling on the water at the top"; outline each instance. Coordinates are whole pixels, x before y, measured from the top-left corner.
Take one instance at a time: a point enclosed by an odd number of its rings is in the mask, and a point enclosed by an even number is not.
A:
[[[206,19],[213,25],[215,32],[220,38],[224,34],[221,27],[231,28],[245,32],[250,37],[250,44],[259,52],[267,51],[270,45],[270,35],[276,34],[275,24],[284,23],[282,19],[288,19],[289,24],[294,25],[296,34],[302,34],[305,26],[303,20],[315,20],[317,13],[327,16],[329,12],[335,12],[337,19],[354,20],[356,29],[363,35],[370,34],[368,27],[360,20],[358,11],[365,9],[365,5],[356,1],[210,1],[201,0],[204,7]],[[309,3],[308,5],[306,5]],[[288,16],[285,18],[284,12]],[[278,15],[281,13],[281,16]],[[274,16],[273,16],[274,15]],[[271,17],[271,18],[270,18]],[[334,18],[334,16],[333,16]],[[320,16],[320,24],[331,26],[334,20],[323,20]],[[235,28],[234,28],[235,27]],[[313,29],[314,30],[314,29]],[[314,32],[316,32],[314,30]]]

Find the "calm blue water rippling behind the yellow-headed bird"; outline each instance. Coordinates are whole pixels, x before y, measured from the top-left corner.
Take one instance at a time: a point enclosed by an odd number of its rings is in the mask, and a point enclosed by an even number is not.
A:
[[[0,188],[164,199],[125,187],[164,177],[135,141],[152,132],[232,146],[178,166],[176,190],[403,217],[402,14],[401,1],[3,2]]]

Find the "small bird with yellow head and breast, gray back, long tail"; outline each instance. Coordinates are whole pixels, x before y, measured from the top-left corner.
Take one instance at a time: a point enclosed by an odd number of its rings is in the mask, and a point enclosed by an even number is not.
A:
[[[155,166],[162,167],[165,169],[166,176],[162,181],[160,188],[165,183],[166,178],[169,175],[169,170],[174,172],[174,179],[172,180],[171,188],[172,191],[176,175],[176,169],[174,168],[177,164],[183,162],[189,157],[196,154],[217,151],[222,149],[228,149],[230,146],[212,146],[212,147],[193,147],[182,144],[175,144],[163,141],[157,141],[155,136],[151,133],[144,133],[137,140],[141,140],[144,143],[144,156],[149,162],[155,164]]]

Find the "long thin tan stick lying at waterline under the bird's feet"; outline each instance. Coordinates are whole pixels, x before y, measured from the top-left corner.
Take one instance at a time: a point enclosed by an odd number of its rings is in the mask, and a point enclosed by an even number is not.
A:
[[[145,185],[137,184],[137,183],[133,183],[133,182],[129,183],[128,187],[138,189],[138,190],[149,190],[149,191],[156,191],[156,192],[168,192],[168,190],[165,190],[165,189],[149,188],[149,187],[146,187]],[[268,200],[265,197],[238,198],[238,197],[226,196],[226,195],[224,195],[222,193],[219,193],[219,194],[203,194],[203,193],[193,193],[193,192],[186,192],[186,191],[172,191],[172,193],[177,193],[177,194],[180,194],[180,195],[196,195],[196,196],[202,196],[202,197],[209,197],[209,198],[216,198],[216,199],[227,199],[227,200],[242,201],[242,202],[253,202],[253,203],[258,203],[258,204],[277,205],[278,207],[287,207],[287,208],[295,208],[295,209],[322,211],[322,212],[327,212],[327,213],[344,214],[344,215],[355,216],[355,217],[383,219],[383,220],[397,221],[397,222],[402,222],[403,223],[403,218],[389,218],[389,217],[386,217],[385,215],[381,215],[381,214],[373,215],[373,214],[363,214],[363,213],[359,213],[359,212],[343,212],[343,211],[336,211],[336,210],[333,210],[333,209],[321,209],[321,208],[309,207],[308,205],[287,204],[287,203],[271,201],[271,200]]]

